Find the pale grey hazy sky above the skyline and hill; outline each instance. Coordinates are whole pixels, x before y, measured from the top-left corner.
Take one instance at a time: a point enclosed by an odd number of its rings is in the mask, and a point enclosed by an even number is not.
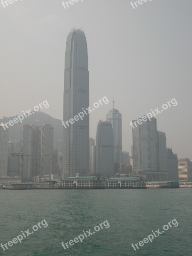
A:
[[[112,108],[122,113],[123,150],[131,152],[130,121],[175,98],[157,116],[167,147],[192,160],[192,0],[84,0],[64,9],[62,0],[0,4],[0,117],[32,109],[62,119],[64,54],[69,30],[84,29],[89,55],[90,137]],[[66,1],[64,1],[66,2]]]

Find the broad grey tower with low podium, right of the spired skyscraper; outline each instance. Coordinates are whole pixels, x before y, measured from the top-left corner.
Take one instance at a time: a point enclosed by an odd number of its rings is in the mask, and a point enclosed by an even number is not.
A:
[[[137,122],[134,120],[132,122]],[[142,124],[137,123],[133,131],[133,171],[144,172],[148,181],[161,181],[164,173],[159,172],[157,120],[152,117]]]

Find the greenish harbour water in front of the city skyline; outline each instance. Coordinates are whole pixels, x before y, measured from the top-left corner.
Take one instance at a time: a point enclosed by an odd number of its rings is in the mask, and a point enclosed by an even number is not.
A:
[[[7,243],[32,231],[42,220],[43,227],[22,243],[0,248],[9,256],[188,256],[192,253],[192,189],[105,189],[105,190],[0,190],[0,243]],[[151,230],[163,230],[172,219],[177,227],[134,251]],[[64,243],[108,221],[105,227],[83,243]],[[173,226],[173,225],[172,225]],[[87,234],[88,235],[88,234]]]

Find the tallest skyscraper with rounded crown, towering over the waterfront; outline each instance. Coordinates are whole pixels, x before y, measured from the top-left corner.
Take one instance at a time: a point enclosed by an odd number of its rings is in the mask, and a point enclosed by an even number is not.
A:
[[[67,36],[65,52],[63,177],[89,175],[89,114],[83,112],[88,107],[87,41],[83,29],[74,27]],[[84,116],[72,120],[80,112]]]

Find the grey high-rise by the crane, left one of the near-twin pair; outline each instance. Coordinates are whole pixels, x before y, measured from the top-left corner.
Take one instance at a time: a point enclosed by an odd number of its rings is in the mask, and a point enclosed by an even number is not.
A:
[[[35,171],[35,128],[22,125],[20,128],[19,176],[22,182],[30,180]]]

